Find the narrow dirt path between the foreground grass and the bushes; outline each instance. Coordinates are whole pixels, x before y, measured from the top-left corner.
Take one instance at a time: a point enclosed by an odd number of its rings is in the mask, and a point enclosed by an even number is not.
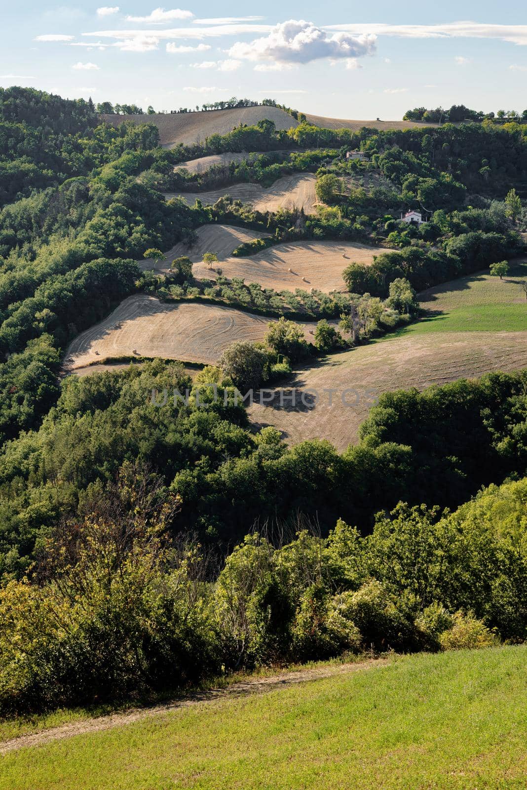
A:
[[[43,730],[42,732],[34,732],[31,735],[20,735],[17,738],[0,742],[0,754],[7,754],[9,751],[27,747],[45,746],[51,741],[72,738],[73,735],[85,735],[91,732],[101,732],[115,727],[123,727],[141,719],[164,716],[166,713],[189,708],[192,705],[211,704],[222,699],[244,697],[248,694],[263,694],[268,691],[293,686],[295,683],[308,683],[312,680],[331,678],[335,677],[335,675],[371,669],[374,666],[385,666],[386,664],[386,659],[370,659],[357,662],[356,664],[336,664],[298,672],[283,672],[281,675],[272,675],[268,678],[242,680],[239,683],[233,683],[232,686],[225,689],[215,688],[196,692],[188,697],[177,699],[173,702],[165,702],[163,705],[154,705],[151,708],[133,708],[125,713],[111,713],[109,716],[62,724],[59,727]]]

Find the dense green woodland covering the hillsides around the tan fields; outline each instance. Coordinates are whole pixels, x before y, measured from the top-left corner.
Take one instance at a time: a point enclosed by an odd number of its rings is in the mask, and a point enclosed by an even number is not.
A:
[[[152,124],[114,128],[91,102],[0,90],[0,714],[345,650],[527,637],[526,371],[383,393],[344,453],[255,431],[235,397],[341,347],[326,321],[310,348],[279,318],[193,380],[163,359],[60,375],[69,342],[133,293],[340,316],[342,333],[360,326],[353,345],[415,320],[416,291],[525,248],[525,125],[299,120],[166,150]],[[392,186],[344,189],[349,148]],[[304,216],[163,197],[167,184],[195,188],[178,164],[228,151],[265,154],[222,179],[312,171],[326,205]],[[429,221],[402,228],[403,206]],[[215,222],[379,254],[343,263],[340,295],[196,284],[189,259],[167,276],[140,267]],[[151,397],[174,388],[189,402]]]

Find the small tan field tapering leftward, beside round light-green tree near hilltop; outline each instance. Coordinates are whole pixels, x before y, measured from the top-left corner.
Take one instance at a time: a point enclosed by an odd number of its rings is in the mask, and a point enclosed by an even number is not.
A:
[[[234,184],[211,192],[165,193],[165,198],[182,198],[187,205],[194,205],[196,199],[204,205],[212,205],[224,195],[234,200],[250,203],[257,211],[276,211],[283,209],[304,209],[306,214],[315,213],[316,176],[313,173],[284,175],[267,189],[260,184]]]

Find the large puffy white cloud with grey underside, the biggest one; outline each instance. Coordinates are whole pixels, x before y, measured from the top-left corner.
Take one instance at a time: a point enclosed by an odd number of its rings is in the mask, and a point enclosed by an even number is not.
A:
[[[232,58],[308,63],[320,58],[356,58],[375,51],[375,36],[327,33],[312,22],[289,20],[275,25],[268,36],[251,43],[238,41]]]

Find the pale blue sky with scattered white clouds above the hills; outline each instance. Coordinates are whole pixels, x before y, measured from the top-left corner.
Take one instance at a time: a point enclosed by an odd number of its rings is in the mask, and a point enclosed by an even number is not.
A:
[[[0,86],[156,111],[268,97],[342,119],[527,108],[519,0],[102,2],[3,0]]]

